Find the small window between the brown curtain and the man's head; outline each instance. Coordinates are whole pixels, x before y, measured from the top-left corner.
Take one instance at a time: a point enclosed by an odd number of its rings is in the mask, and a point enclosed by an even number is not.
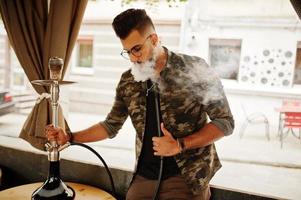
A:
[[[73,68],[75,73],[93,73],[93,39],[80,37],[74,49]]]

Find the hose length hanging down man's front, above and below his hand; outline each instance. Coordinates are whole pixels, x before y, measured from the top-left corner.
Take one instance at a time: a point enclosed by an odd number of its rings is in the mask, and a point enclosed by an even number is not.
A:
[[[156,90],[154,90],[154,94],[155,94],[155,114],[156,114],[156,118],[157,118],[157,130],[158,130],[158,136],[161,137],[161,127],[160,127],[160,112],[159,112],[159,100],[158,100],[158,92]],[[157,200],[158,199],[158,193],[160,190],[160,184],[162,181],[162,172],[163,172],[163,156],[160,156],[160,169],[159,169],[159,175],[158,175],[158,183],[156,185],[155,188],[155,193],[153,196],[153,200]]]

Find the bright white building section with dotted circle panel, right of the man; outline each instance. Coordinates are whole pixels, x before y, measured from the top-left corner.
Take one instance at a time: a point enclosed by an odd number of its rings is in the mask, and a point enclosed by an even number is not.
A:
[[[276,108],[285,99],[301,100],[300,38],[301,22],[289,1],[190,0],[180,51],[215,68],[237,125],[261,113],[276,132]]]

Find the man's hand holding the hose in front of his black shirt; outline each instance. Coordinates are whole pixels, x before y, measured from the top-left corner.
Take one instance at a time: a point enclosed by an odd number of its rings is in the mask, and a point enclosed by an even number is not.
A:
[[[177,140],[161,123],[161,130],[164,134],[162,137],[153,137],[153,149],[155,156],[174,156],[181,152]]]

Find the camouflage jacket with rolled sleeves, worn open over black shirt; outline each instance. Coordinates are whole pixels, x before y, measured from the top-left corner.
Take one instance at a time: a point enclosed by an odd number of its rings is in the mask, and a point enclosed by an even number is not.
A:
[[[232,133],[234,120],[221,83],[203,59],[168,51],[158,88],[162,120],[174,138],[193,134],[206,123],[216,125],[225,135]],[[101,122],[110,138],[117,134],[128,115],[136,129],[138,161],[145,129],[146,82],[135,81],[131,70],[122,74],[111,112]],[[199,193],[221,167],[214,144],[187,150],[174,158],[194,194]]]

